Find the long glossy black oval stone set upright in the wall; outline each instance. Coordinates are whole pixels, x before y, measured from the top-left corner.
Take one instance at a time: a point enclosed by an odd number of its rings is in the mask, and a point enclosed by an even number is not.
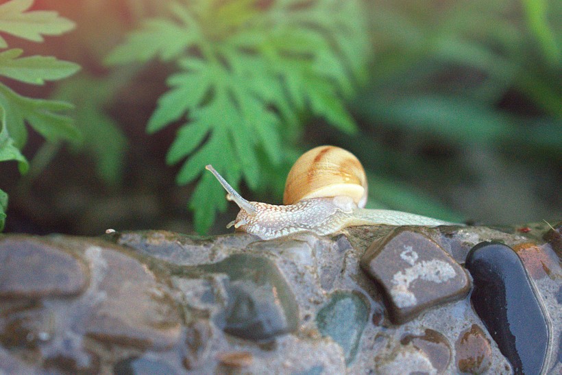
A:
[[[502,243],[481,242],[466,267],[474,278],[474,309],[515,374],[539,374],[550,333],[519,256]]]

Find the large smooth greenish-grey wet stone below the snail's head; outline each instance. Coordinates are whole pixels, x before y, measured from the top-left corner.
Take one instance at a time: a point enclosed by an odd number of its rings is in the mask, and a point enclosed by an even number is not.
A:
[[[295,296],[273,261],[262,256],[234,254],[197,269],[227,274],[228,304],[217,324],[243,339],[267,340],[297,329]]]

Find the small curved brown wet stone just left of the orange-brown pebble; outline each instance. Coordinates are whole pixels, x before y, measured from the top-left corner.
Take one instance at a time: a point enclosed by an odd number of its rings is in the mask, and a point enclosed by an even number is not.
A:
[[[424,335],[406,335],[400,340],[402,345],[411,344],[424,352],[437,372],[443,372],[451,361],[451,348],[449,341],[441,333],[426,329]]]

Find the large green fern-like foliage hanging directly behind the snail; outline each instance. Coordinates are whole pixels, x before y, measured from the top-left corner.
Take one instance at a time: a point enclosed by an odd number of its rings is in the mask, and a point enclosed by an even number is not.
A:
[[[182,119],[167,162],[187,157],[178,183],[212,164],[236,188],[263,184],[260,169],[291,154],[303,116],[344,132],[356,125],[343,105],[365,75],[369,41],[358,0],[190,0],[170,16],[145,21],[107,57],[108,64],[158,58],[175,62],[147,125],[156,132]],[[210,173],[190,207],[206,231],[224,192]]]

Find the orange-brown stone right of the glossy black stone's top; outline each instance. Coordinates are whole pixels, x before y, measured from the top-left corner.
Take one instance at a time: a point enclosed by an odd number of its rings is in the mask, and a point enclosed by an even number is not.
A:
[[[523,261],[530,277],[538,280],[546,276],[562,276],[558,257],[548,243],[539,246],[533,242],[525,242],[513,246],[513,250]]]

